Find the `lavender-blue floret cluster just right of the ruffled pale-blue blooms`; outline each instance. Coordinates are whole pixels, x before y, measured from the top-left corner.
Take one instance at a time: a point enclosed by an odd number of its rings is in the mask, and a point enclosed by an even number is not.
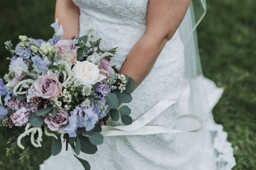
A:
[[[93,111],[97,114],[98,118],[101,119],[105,117],[107,113],[109,113],[111,108],[107,104],[106,97],[102,97],[102,96],[95,96],[95,97],[102,98],[102,100],[97,101],[98,103],[95,104],[95,107],[93,109]]]

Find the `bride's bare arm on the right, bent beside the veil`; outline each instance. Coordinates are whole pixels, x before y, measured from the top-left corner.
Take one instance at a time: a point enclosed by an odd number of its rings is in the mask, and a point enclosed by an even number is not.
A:
[[[145,33],[133,46],[119,73],[133,78],[136,87],[150,73],[165,43],[181,24],[190,0],[149,0]]]

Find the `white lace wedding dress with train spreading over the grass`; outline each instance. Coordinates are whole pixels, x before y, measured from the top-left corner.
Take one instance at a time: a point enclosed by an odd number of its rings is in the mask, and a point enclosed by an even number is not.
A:
[[[73,2],[80,8],[79,36],[94,33],[95,39],[102,37],[106,44],[118,47],[111,64],[120,69],[127,54],[145,31],[148,0]],[[193,10],[191,6],[189,10]],[[197,55],[197,44],[187,45],[187,42],[196,42],[193,40],[196,39],[195,34],[184,37],[185,33],[188,34],[186,24],[191,20],[191,15],[185,17],[183,24],[166,43],[150,74],[133,92],[132,102],[127,105],[131,108],[131,117],[136,120],[161,101],[164,94],[178,100],[182,93],[182,82],[187,79],[191,87],[190,98],[170,106],[148,125],[193,129],[198,126],[194,120],[175,119],[182,114],[197,114],[204,121],[202,130],[194,133],[105,137],[96,154],[79,154],[80,158],[90,163],[92,170],[230,170],[235,165],[233,148],[226,141],[227,133],[221,125],[214,123],[211,114],[222,89],[201,74],[193,75],[191,62],[197,61],[187,60],[189,57],[186,57]],[[188,40],[188,37],[193,38]],[[200,67],[200,64],[196,67]],[[111,120],[107,124],[123,125],[121,121]],[[50,156],[40,165],[40,169],[82,170],[83,167],[73,156],[71,148],[65,151],[63,145],[62,152]]]

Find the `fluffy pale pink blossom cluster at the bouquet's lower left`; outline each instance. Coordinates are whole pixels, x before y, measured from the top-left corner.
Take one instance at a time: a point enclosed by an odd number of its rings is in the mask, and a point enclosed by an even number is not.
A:
[[[29,109],[23,107],[11,115],[11,120],[15,126],[25,126],[29,122],[29,115]]]

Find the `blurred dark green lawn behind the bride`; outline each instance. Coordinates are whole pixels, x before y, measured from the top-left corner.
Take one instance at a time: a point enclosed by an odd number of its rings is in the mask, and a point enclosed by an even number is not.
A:
[[[207,1],[207,13],[197,28],[203,73],[224,89],[213,109],[214,120],[228,133],[237,165],[234,170],[256,169],[256,1]],[[10,53],[3,44],[18,43],[19,35],[48,40],[53,35],[53,0],[1,0],[0,77],[8,70]],[[6,156],[8,135],[0,129],[0,169],[39,169],[51,154],[51,139],[44,138],[25,163],[21,151]],[[1,134],[1,133],[0,133]]]

